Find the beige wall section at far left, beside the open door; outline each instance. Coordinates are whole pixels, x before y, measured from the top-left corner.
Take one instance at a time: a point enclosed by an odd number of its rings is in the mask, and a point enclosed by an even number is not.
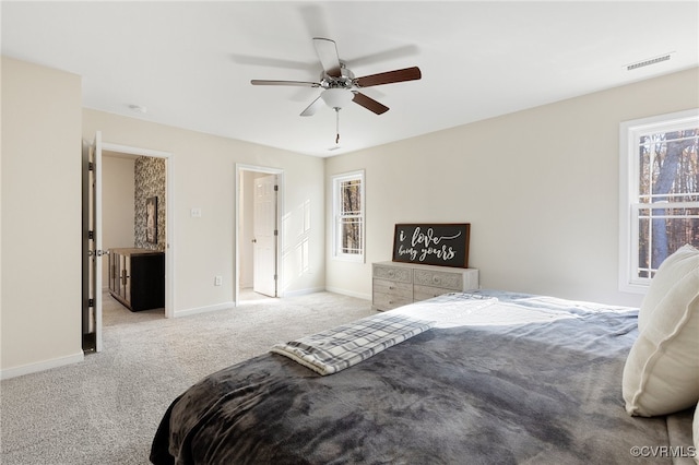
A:
[[[83,357],[80,141],[80,76],[3,57],[3,377]]]

